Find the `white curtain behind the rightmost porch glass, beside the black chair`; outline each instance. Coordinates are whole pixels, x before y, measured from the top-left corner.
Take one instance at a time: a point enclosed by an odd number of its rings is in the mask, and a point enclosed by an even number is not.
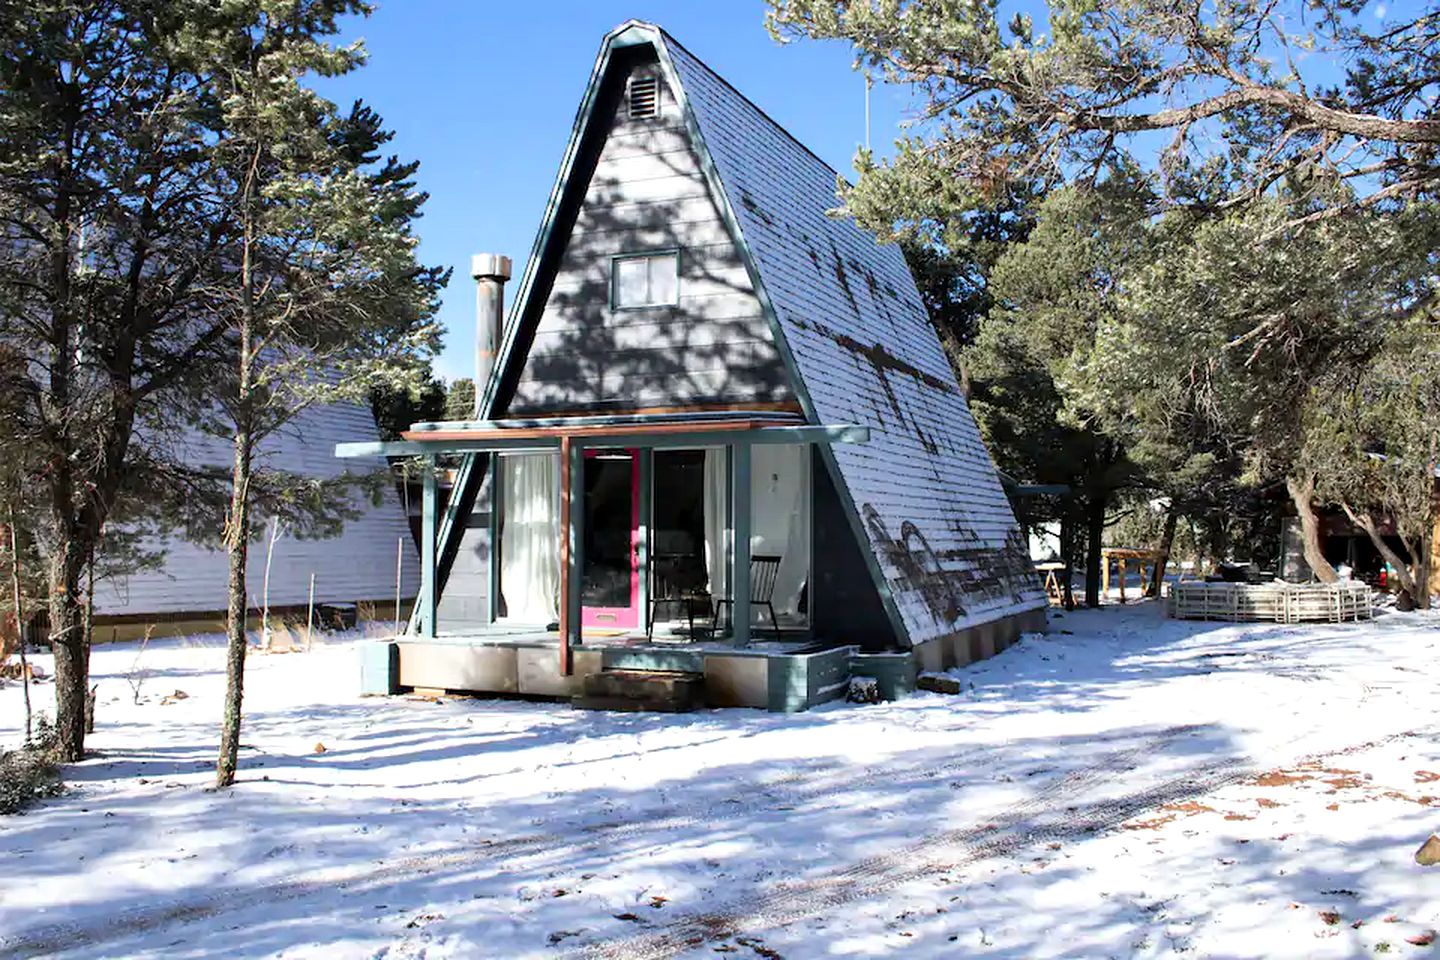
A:
[[[809,446],[757,443],[750,453],[750,554],[780,557],[775,612],[798,617],[809,579]],[[763,607],[756,607],[759,613]]]

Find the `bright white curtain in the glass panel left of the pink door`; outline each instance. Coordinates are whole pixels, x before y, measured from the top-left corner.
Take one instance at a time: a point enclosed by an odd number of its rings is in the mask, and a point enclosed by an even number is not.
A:
[[[500,590],[507,619],[553,623],[560,609],[559,458],[503,456],[500,478]]]

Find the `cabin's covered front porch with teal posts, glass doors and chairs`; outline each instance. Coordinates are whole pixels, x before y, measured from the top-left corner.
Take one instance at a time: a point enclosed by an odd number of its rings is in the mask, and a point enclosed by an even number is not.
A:
[[[812,465],[868,429],[691,412],[420,423],[403,438],[337,448],[429,465],[420,592],[387,687],[580,697],[598,674],[657,671],[703,676],[711,705],[798,710],[848,679],[858,651],[811,616]],[[490,478],[474,514],[488,604],[464,622],[441,602],[445,544],[474,522],[436,497],[436,462],[454,455]]]

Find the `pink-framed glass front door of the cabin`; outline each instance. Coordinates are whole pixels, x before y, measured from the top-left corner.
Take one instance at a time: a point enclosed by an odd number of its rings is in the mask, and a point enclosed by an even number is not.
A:
[[[580,625],[639,626],[639,456],[586,450]]]

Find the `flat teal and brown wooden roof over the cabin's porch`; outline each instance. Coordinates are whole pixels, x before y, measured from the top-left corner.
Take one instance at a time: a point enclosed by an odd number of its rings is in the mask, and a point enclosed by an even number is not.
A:
[[[776,416],[619,422],[467,420],[416,423],[402,440],[337,443],[336,456],[422,456],[492,453],[577,446],[677,448],[714,443],[867,443],[870,427],[806,425]]]

